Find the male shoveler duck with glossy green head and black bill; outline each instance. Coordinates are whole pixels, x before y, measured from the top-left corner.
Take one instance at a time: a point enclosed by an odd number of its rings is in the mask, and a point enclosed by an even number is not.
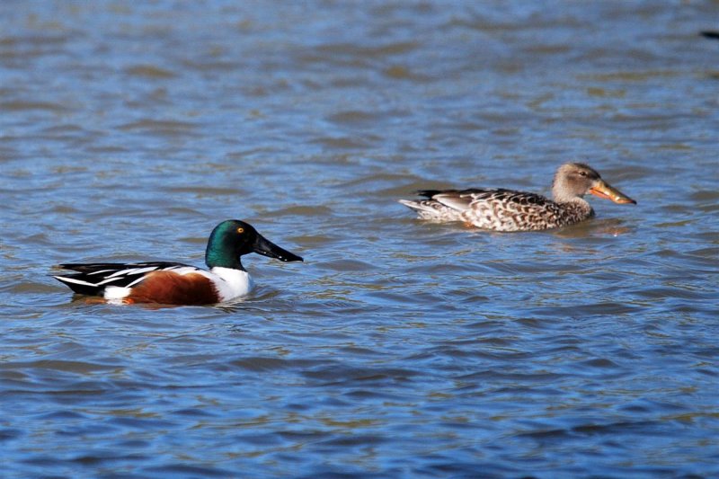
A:
[[[120,303],[209,305],[246,295],[253,281],[241,257],[259,253],[283,262],[301,262],[260,235],[253,226],[228,219],[209,235],[205,262],[209,271],[179,262],[67,263],[60,267],[77,271],[54,276],[75,293],[102,296]]]

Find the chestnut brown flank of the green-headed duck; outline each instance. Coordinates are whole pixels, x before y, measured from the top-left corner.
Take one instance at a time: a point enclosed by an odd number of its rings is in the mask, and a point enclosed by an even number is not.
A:
[[[132,288],[125,300],[128,303],[210,305],[218,303],[219,297],[212,282],[201,274],[153,271]]]

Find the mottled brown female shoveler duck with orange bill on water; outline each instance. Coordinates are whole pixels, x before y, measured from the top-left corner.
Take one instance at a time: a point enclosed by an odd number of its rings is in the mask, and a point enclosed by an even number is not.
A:
[[[615,203],[634,203],[586,164],[560,166],[552,183],[553,200],[511,190],[422,190],[426,200],[399,200],[422,219],[464,221],[494,231],[531,231],[569,226],[594,216],[582,197],[591,193]]]

